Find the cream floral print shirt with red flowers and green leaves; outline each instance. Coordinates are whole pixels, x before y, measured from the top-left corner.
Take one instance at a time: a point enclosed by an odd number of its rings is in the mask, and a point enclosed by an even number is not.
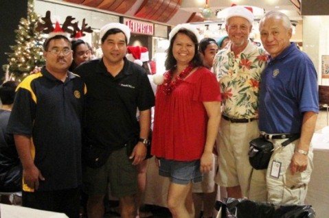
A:
[[[250,41],[237,56],[230,45],[218,51],[213,71],[220,82],[223,115],[235,119],[258,117],[258,88],[267,59],[266,51]]]

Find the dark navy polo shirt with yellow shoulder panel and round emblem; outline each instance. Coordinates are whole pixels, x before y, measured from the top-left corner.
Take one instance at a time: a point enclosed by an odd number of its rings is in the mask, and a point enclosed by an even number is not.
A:
[[[45,177],[38,191],[73,189],[82,184],[81,147],[84,96],[81,78],[57,80],[45,67],[16,90],[8,132],[32,137],[34,164]]]

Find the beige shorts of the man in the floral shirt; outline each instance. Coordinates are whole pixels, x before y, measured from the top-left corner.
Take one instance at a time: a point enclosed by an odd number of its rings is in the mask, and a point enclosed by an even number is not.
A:
[[[242,196],[249,196],[251,173],[249,141],[259,136],[258,122],[231,123],[221,119],[217,138],[218,167],[216,183],[223,187],[241,187]]]

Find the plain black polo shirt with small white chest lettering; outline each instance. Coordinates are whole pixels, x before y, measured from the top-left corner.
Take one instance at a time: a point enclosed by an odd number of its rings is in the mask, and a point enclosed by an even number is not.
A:
[[[114,150],[139,136],[137,108],[142,111],[155,105],[144,69],[124,58],[122,71],[113,77],[98,59],[84,62],[75,72],[88,88],[85,130],[89,140]]]

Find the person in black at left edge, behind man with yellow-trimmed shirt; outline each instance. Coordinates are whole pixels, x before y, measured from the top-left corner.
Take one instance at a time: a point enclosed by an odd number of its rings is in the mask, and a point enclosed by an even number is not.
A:
[[[16,81],[0,86],[0,192],[14,193],[22,190],[22,165],[14,143],[14,136],[6,132],[8,119],[14,103]],[[1,204],[11,204],[9,195],[1,195]]]

